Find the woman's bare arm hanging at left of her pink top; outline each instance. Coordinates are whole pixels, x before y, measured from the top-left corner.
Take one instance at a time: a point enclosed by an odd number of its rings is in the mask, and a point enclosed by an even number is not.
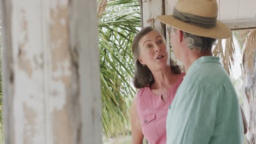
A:
[[[144,135],[141,130],[141,122],[139,121],[139,116],[137,112],[137,94],[132,100],[130,112],[131,112],[132,144],[142,144]]]

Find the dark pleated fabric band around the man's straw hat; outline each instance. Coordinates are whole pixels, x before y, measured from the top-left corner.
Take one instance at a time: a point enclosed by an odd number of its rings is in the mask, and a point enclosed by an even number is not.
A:
[[[216,26],[217,16],[216,17],[202,17],[188,13],[181,13],[175,7],[172,14],[176,19],[179,19],[183,22],[190,23],[202,28],[213,28]]]

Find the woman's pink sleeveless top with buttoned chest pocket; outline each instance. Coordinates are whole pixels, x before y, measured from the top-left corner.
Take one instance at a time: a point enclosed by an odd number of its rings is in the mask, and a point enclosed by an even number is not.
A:
[[[138,91],[138,116],[141,119],[142,133],[150,144],[166,144],[166,117],[176,91],[185,73],[179,76],[177,82],[168,89],[166,103],[161,95],[154,94],[149,87]]]

